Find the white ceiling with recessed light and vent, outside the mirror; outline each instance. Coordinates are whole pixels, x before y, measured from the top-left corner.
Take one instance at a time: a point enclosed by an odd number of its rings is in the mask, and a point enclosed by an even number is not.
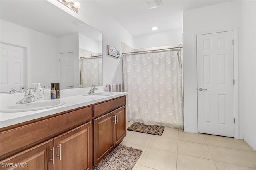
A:
[[[225,0],[162,0],[162,5],[146,9],[146,0],[97,0],[133,36],[182,28],[183,11],[227,2]],[[152,31],[152,27],[158,27]]]

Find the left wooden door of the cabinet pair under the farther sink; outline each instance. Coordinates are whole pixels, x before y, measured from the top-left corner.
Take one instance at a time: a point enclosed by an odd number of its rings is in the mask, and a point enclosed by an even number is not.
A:
[[[114,112],[94,119],[94,161],[100,162],[114,148]]]

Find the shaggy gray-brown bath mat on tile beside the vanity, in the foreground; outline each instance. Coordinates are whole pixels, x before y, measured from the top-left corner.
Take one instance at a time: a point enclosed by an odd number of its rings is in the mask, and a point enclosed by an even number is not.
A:
[[[132,170],[142,150],[118,145],[100,161],[94,170]]]

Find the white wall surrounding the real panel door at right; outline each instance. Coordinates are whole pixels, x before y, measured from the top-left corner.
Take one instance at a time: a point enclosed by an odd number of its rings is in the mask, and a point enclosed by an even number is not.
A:
[[[196,35],[238,28],[239,135],[255,146],[255,2],[233,1],[183,14],[184,131],[197,133]],[[241,7],[242,6],[242,7]],[[247,18],[247,19],[246,19]],[[250,45],[249,45],[250,44]],[[248,46],[249,45],[249,46]],[[248,46],[248,47],[247,47]],[[248,51],[249,49],[249,51]],[[249,130],[251,128],[251,130]]]

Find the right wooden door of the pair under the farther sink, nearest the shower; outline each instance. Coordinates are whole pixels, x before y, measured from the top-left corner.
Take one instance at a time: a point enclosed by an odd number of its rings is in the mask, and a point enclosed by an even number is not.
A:
[[[114,124],[114,141],[115,146],[118,145],[126,136],[126,107],[116,109],[116,123]]]

